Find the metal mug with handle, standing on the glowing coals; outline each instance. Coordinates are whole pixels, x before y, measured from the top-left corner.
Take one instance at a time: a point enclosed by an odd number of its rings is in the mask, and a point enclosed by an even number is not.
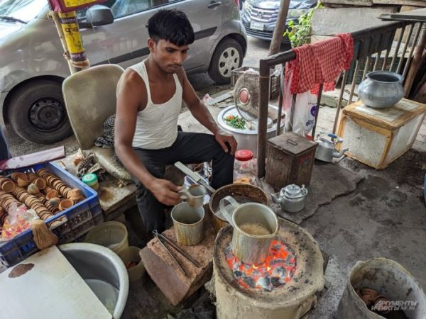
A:
[[[233,211],[229,213],[225,202],[228,201]],[[261,203],[239,204],[231,196],[225,196],[219,201],[222,215],[234,227],[232,233],[232,252],[246,264],[261,264],[268,257],[273,239],[278,233],[278,218],[266,205]],[[269,231],[268,235],[252,235],[241,229],[241,225],[261,224]]]

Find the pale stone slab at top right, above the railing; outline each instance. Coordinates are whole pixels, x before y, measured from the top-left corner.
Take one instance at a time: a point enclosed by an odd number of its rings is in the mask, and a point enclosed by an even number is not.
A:
[[[383,26],[382,13],[394,13],[396,7],[323,8],[312,16],[312,35],[335,35],[351,33],[365,28]]]

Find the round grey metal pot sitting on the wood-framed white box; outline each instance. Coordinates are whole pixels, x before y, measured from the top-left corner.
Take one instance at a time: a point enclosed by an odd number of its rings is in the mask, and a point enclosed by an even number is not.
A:
[[[389,71],[375,71],[358,86],[358,96],[372,108],[394,106],[404,96],[403,77]]]

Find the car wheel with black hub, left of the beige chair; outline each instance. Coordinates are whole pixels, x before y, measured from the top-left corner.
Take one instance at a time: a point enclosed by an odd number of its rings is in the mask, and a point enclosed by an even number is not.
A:
[[[72,134],[61,84],[35,80],[19,87],[8,106],[13,130],[25,140],[50,144]]]

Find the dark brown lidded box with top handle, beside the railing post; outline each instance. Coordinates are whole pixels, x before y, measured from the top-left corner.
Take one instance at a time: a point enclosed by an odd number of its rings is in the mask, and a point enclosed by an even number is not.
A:
[[[317,143],[293,132],[268,140],[266,182],[274,189],[288,184],[309,185]]]

